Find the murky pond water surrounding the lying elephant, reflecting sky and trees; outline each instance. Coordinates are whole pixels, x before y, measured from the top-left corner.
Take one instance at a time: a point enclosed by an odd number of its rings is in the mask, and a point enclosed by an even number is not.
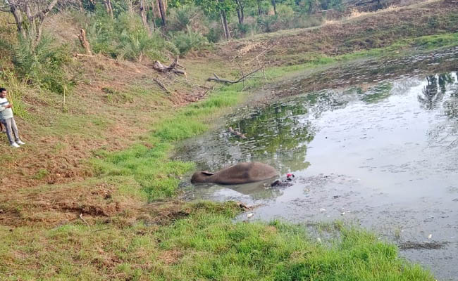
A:
[[[292,185],[190,186],[187,196],[260,204],[250,220],[358,223],[440,280],[458,280],[457,73],[404,75],[242,108],[223,128],[185,143],[180,155],[209,170],[264,162],[295,174]]]

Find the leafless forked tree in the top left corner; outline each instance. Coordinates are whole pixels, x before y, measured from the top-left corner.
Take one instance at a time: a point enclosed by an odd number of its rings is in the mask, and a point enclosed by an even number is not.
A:
[[[44,19],[62,0],[1,0],[0,11],[12,13],[19,34],[36,46],[42,37]]]

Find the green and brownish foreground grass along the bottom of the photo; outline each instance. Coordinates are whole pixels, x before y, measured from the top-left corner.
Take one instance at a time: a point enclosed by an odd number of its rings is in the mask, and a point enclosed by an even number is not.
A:
[[[304,226],[233,223],[233,202],[182,208],[186,218],[160,228],[1,227],[0,273],[4,280],[433,280],[398,258],[394,245],[340,223],[320,244]]]

